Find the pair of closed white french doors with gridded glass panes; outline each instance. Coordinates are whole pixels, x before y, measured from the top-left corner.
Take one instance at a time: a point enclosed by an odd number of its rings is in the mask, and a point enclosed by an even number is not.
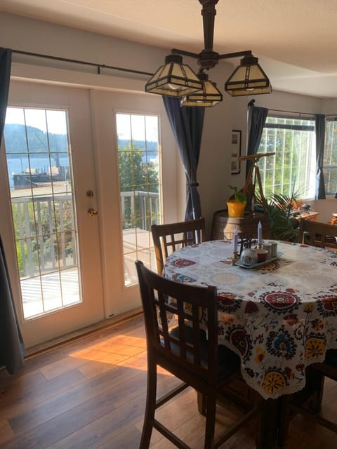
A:
[[[8,107],[0,233],[31,347],[140,307],[134,259],[183,219],[185,173],[158,95],[11,81]]]

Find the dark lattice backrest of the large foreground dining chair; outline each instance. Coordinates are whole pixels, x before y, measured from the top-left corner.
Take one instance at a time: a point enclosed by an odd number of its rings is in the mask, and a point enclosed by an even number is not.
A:
[[[148,361],[160,366],[196,389],[200,382],[216,381],[218,354],[218,309],[216,287],[191,286],[171,281],[147,269],[136,260],[140,296],[143,304]],[[201,315],[206,314],[206,334],[201,330]],[[173,330],[170,319],[175,318]],[[207,347],[201,354],[201,337]],[[150,363],[149,363],[150,366]],[[198,383],[199,382],[199,383]],[[200,390],[199,390],[200,391]]]

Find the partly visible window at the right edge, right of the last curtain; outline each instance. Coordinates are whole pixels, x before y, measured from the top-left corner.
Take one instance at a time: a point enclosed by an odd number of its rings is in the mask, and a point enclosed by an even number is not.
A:
[[[325,194],[337,192],[337,119],[326,119],[323,173]]]

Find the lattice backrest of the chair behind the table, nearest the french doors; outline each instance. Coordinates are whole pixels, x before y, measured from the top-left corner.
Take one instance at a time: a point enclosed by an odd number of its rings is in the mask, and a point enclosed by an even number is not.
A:
[[[205,220],[197,218],[186,222],[152,225],[152,239],[157,260],[157,271],[163,272],[164,262],[174,251],[183,246],[201,243],[205,238]]]

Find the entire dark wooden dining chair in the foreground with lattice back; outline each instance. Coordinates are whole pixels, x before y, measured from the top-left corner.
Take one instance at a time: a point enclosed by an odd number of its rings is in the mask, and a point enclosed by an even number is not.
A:
[[[225,384],[239,376],[240,371],[239,356],[226,347],[218,347],[216,287],[201,288],[165,279],[139,260],[136,267],[147,341],[147,398],[140,449],[149,447],[153,428],[178,448],[190,448],[156,417],[159,407],[187,387],[194,388],[206,398],[204,448],[219,448],[258,413],[259,405],[253,404],[215,439],[216,403]],[[167,297],[174,299],[168,301]],[[207,316],[206,333],[200,327],[200,310]],[[173,328],[170,328],[168,314],[178,317]],[[182,383],[157,399],[158,366]]]

